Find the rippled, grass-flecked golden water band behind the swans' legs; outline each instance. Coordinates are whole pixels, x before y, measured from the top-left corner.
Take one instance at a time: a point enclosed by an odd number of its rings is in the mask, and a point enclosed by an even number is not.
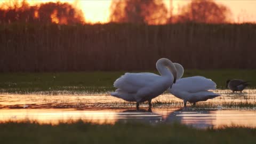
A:
[[[243,93],[231,93],[229,90],[216,90],[220,97],[197,105],[222,106],[234,103],[252,103],[256,105],[256,90],[247,89]],[[154,103],[162,102],[160,105]],[[135,103],[126,102],[108,94],[87,95],[39,95],[39,94],[0,94],[0,108],[15,108],[29,105],[31,108],[131,108]],[[182,107],[183,101],[172,94],[162,94],[153,99],[156,107]],[[10,106],[10,107],[9,107]],[[148,107],[147,104],[141,107]]]

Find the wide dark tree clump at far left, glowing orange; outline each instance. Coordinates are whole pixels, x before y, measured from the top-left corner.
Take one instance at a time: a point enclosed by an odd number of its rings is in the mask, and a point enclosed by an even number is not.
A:
[[[30,6],[25,0],[8,1],[0,6],[0,22],[30,22],[30,23],[84,23],[81,10],[69,3],[42,3]]]

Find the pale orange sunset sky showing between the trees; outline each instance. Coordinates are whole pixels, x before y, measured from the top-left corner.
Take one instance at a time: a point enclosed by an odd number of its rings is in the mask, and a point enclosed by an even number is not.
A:
[[[8,0],[2,0],[6,2]],[[226,5],[233,14],[233,20],[235,22],[255,22],[256,21],[256,1],[244,1],[244,0],[215,0],[217,3]],[[38,3],[38,1],[28,0],[31,5]],[[49,0],[41,2],[50,2]],[[52,1],[57,2],[57,1]],[[65,0],[61,2],[69,2],[76,5],[81,9],[85,15],[86,22],[108,22],[109,6],[111,0]],[[179,7],[185,5],[189,0],[173,0],[173,13],[177,14]],[[164,0],[167,8],[170,7],[170,0]]]

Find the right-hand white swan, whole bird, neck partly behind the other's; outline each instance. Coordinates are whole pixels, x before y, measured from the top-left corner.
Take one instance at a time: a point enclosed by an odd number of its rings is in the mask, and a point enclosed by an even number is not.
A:
[[[168,91],[182,99],[184,107],[187,106],[187,101],[196,105],[198,101],[206,101],[220,96],[220,94],[208,91],[216,89],[216,84],[211,79],[203,76],[181,78],[184,73],[183,67],[179,63],[173,64],[177,69],[177,82]]]

